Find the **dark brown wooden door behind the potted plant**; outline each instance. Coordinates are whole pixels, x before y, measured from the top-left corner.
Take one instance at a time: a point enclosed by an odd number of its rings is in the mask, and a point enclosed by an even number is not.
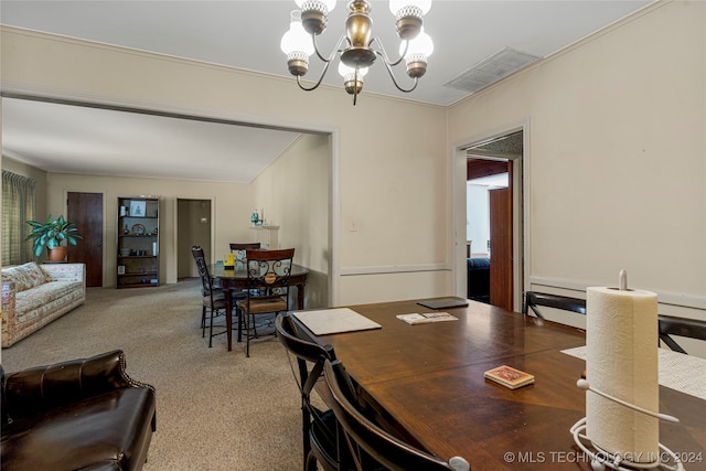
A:
[[[68,246],[68,261],[86,264],[86,286],[103,286],[103,193],[68,193],[66,218],[84,236]]]

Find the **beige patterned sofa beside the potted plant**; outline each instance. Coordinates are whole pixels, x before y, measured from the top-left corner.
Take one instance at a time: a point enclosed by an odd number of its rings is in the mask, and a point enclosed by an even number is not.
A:
[[[30,261],[2,269],[2,346],[24,339],[83,304],[84,264]]]

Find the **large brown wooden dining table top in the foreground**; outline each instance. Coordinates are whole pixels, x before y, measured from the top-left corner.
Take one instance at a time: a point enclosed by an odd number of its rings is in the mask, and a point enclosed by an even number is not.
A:
[[[350,307],[382,329],[318,336],[298,323],[333,346],[377,419],[419,448],[461,456],[472,470],[591,470],[569,432],[586,416],[587,393],[576,386],[586,363],[561,352],[585,345],[585,331],[474,301],[441,310],[457,321],[396,318],[432,312],[417,301]],[[513,390],[484,378],[501,365],[535,383]],[[660,411],[681,420],[660,424],[661,442],[686,470],[706,469],[706,400],[660,386]]]

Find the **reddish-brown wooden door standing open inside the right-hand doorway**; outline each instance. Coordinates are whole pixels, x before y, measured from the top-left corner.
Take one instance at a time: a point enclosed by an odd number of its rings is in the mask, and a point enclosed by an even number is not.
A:
[[[490,303],[512,311],[512,188],[490,190]]]

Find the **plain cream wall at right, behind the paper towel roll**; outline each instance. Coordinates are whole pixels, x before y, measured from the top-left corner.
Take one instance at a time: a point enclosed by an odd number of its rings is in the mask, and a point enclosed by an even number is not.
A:
[[[659,2],[449,108],[451,147],[528,122],[526,288],[580,297],[624,268],[706,318],[705,24],[704,2]]]

